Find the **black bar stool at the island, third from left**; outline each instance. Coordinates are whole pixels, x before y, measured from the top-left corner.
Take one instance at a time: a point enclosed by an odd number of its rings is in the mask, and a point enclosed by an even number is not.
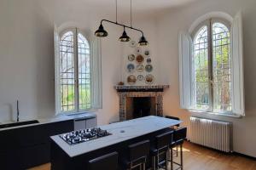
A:
[[[150,148],[150,155],[152,157],[152,167],[153,169],[168,167],[168,150],[169,144],[172,143],[172,133],[170,130],[166,133],[162,133],[155,137],[155,144]],[[164,165],[165,164],[165,165]]]

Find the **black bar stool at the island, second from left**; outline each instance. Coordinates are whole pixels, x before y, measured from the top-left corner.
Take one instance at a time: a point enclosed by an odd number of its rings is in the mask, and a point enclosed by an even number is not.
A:
[[[145,170],[147,156],[149,155],[150,141],[144,140],[136,144],[131,144],[128,146],[128,157],[124,158],[123,163],[125,164],[125,169],[133,169],[139,167],[139,169]]]

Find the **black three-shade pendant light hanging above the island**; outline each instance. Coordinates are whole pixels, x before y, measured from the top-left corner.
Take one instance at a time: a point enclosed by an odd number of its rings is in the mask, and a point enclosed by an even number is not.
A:
[[[124,31],[123,31],[123,34],[121,37],[119,37],[119,41],[120,42],[129,42],[131,40],[131,38],[127,35],[126,31],[125,31],[125,28],[129,28],[131,30],[134,30],[134,31],[139,31],[142,33],[142,37],[140,38],[139,40],[139,45],[140,46],[146,46],[148,45],[148,41],[146,40],[146,38],[144,37],[144,33],[143,31],[137,29],[137,28],[134,28],[132,27],[132,18],[131,18],[131,26],[125,26],[123,24],[119,24],[118,21],[117,21],[117,0],[115,1],[115,17],[116,17],[116,21],[113,22],[111,20],[102,20],[101,21],[101,25],[99,26],[98,30],[95,32],[95,36],[96,37],[108,37],[108,31],[104,30],[104,27],[102,26],[102,22],[108,22],[108,23],[111,23],[111,24],[114,24],[114,25],[117,25],[117,26],[123,26],[124,27]]]

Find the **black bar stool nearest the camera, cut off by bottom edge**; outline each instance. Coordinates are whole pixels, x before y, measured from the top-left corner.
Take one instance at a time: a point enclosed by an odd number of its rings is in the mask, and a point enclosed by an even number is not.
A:
[[[112,152],[110,154],[96,157],[88,162],[89,170],[99,170],[99,169],[118,169],[118,153]]]

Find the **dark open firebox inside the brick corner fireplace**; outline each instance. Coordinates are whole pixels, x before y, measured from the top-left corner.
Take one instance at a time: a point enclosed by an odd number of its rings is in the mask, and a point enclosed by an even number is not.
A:
[[[156,102],[154,97],[126,98],[126,120],[151,115],[156,115]]]

